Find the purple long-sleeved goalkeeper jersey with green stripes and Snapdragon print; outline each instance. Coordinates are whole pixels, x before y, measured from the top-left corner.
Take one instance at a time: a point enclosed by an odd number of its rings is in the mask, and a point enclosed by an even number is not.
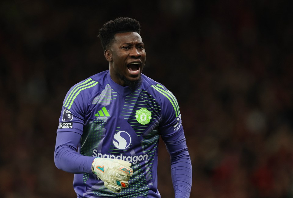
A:
[[[191,160],[179,105],[160,83],[142,74],[142,84],[133,91],[103,71],[68,91],[59,121],[55,163],[75,173],[78,197],[161,197],[157,190],[160,136],[171,156],[175,197],[189,197]],[[128,188],[120,193],[107,189],[91,172],[96,157],[132,163]]]

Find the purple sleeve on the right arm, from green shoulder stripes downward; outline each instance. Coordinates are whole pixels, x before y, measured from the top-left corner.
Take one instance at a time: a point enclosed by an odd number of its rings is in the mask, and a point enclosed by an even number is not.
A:
[[[181,114],[175,96],[163,85],[152,86],[163,95],[159,131],[171,159],[171,176],[175,198],[189,198],[192,184],[192,167],[185,141]]]

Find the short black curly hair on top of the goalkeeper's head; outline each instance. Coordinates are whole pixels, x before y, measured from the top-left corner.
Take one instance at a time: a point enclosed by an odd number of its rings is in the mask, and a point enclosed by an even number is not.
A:
[[[104,50],[110,46],[114,35],[121,32],[137,32],[140,35],[140,24],[137,20],[128,17],[119,17],[110,20],[99,30],[98,37]]]

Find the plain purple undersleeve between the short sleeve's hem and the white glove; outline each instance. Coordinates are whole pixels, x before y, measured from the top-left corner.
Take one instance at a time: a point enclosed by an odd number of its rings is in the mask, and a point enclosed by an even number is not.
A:
[[[58,132],[54,152],[55,165],[70,173],[92,173],[95,157],[83,156],[77,152],[81,135],[75,132]]]

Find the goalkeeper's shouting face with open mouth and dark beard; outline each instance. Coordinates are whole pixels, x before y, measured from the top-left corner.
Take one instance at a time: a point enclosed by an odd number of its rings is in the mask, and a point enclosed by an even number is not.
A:
[[[110,76],[114,82],[128,86],[129,83],[140,80],[146,61],[146,52],[138,33],[117,33],[114,36],[109,54],[111,57]]]

